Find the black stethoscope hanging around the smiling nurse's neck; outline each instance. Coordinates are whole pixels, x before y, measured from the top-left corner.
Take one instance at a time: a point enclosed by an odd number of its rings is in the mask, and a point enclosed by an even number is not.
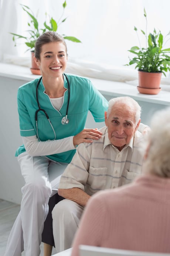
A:
[[[65,75],[65,78],[66,78],[67,83],[68,83],[68,101],[67,101],[66,114],[65,114],[65,116],[62,118],[61,123],[62,123],[62,124],[68,124],[68,123],[69,123],[69,119],[67,118],[67,115],[68,115],[68,106],[69,106],[69,98],[70,98],[70,86],[69,86],[69,81],[68,81],[67,75],[66,75],[66,74],[64,74],[64,75]],[[50,118],[49,118],[47,112],[46,112],[43,108],[40,107],[40,103],[39,103],[39,100],[38,100],[38,86],[39,86],[39,84],[40,84],[42,78],[43,78],[43,77],[40,77],[40,79],[38,80],[37,88],[36,88],[36,99],[37,99],[37,104],[38,104],[38,109],[37,109],[37,111],[35,112],[35,121],[36,121],[36,128],[37,128],[37,137],[38,137],[38,122],[37,122],[37,119],[38,119],[38,112],[39,112],[39,111],[43,111],[44,114],[45,114],[45,116],[47,117],[47,119],[48,119],[50,125],[51,125],[51,128],[52,128],[53,132],[54,132],[54,136],[55,136],[55,137],[54,137],[54,140],[55,140],[55,139],[56,139],[56,134],[55,134],[55,130],[54,130],[52,124],[51,124]],[[39,137],[38,137],[38,139],[40,140]]]

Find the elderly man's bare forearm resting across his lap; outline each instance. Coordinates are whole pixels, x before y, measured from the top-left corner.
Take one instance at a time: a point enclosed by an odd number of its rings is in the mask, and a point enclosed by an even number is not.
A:
[[[58,189],[58,194],[62,197],[72,200],[76,202],[77,204],[80,204],[82,206],[85,206],[91,197],[86,192],[84,192],[80,188],[67,188],[67,189]]]

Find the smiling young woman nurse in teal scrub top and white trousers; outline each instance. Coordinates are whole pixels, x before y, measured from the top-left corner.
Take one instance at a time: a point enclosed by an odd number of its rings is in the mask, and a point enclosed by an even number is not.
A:
[[[8,238],[5,256],[21,256],[23,250],[26,256],[40,255],[48,201],[55,187],[50,174],[62,174],[76,145],[101,137],[97,129],[84,129],[86,117],[91,111],[95,121],[102,122],[108,108],[108,101],[88,78],[64,74],[67,46],[58,33],[45,32],[37,39],[35,62],[42,79],[18,88],[23,145],[16,156],[25,185],[21,189],[21,211]]]

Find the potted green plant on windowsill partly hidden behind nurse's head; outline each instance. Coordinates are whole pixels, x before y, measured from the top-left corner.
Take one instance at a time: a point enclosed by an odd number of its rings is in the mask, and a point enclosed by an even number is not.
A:
[[[17,45],[17,39],[23,38],[26,42],[25,44],[28,46],[28,50],[31,50],[31,72],[33,74],[38,74],[40,75],[40,69],[38,68],[38,66],[35,64],[34,61],[34,49],[35,49],[35,42],[37,40],[37,38],[42,35],[44,32],[46,31],[57,31],[58,26],[62,23],[65,22],[65,19],[62,19],[62,16],[64,15],[64,10],[65,7],[67,6],[66,1],[64,1],[64,3],[62,4],[63,7],[63,12],[61,17],[59,18],[59,20],[61,20],[61,22],[56,22],[52,17],[49,17],[49,23],[50,25],[47,25],[46,20],[44,22],[44,27],[43,28],[39,28],[39,24],[38,24],[38,20],[37,17],[35,17],[33,11],[26,5],[21,4],[22,9],[28,14],[28,16],[31,18],[30,22],[27,23],[28,25],[28,36],[22,36],[22,35],[18,35],[15,33],[10,33],[13,35],[13,41],[15,43],[15,46]],[[47,17],[47,15],[46,15]],[[74,36],[65,36],[62,35],[64,39],[67,40],[71,40],[72,42],[81,42],[79,39],[75,38]],[[27,51],[28,51],[27,50]]]

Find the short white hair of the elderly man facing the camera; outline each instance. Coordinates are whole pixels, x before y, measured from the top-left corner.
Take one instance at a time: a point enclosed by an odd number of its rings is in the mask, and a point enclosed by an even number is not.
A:
[[[112,111],[112,108],[117,103],[123,103],[127,105],[134,113],[135,113],[135,124],[139,122],[140,114],[141,114],[141,107],[137,103],[136,100],[133,100],[133,98],[130,98],[128,96],[125,97],[116,97],[109,100],[109,107],[107,111],[107,117],[109,117],[110,112]]]

